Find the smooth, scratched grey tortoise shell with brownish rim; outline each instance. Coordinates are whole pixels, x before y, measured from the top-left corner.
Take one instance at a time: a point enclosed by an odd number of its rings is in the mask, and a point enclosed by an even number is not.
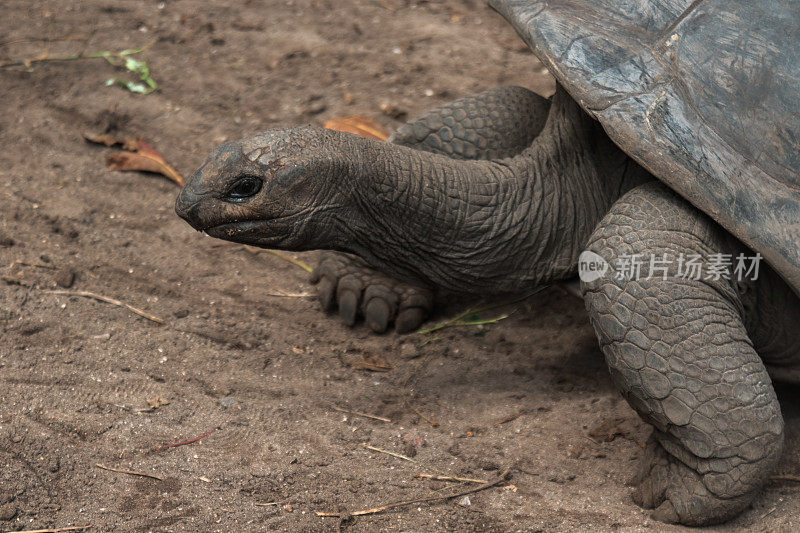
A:
[[[800,2],[489,3],[620,148],[800,294]]]

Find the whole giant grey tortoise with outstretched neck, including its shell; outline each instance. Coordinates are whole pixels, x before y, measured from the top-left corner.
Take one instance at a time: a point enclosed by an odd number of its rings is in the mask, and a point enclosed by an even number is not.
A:
[[[800,382],[800,8],[491,3],[552,100],[493,89],[390,143],[229,142],[176,210],[214,237],[358,256],[323,261],[323,298],[375,329],[413,327],[435,293],[522,292],[580,264],[612,379],[654,428],[634,498],[663,521],[728,520],[781,455],[771,379]]]

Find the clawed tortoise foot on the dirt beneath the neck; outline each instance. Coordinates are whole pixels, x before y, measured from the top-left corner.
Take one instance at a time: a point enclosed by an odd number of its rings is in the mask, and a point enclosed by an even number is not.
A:
[[[311,282],[318,286],[324,311],[338,308],[348,326],[363,317],[375,333],[385,332],[391,324],[398,333],[414,331],[433,307],[430,290],[396,281],[362,260],[338,252],[320,254]]]

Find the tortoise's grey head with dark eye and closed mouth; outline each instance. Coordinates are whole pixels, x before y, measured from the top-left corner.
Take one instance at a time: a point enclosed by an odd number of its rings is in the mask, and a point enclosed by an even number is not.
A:
[[[176,213],[212,237],[304,250],[326,244],[333,158],[325,130],[272,130],[217,147],[175,203]]]

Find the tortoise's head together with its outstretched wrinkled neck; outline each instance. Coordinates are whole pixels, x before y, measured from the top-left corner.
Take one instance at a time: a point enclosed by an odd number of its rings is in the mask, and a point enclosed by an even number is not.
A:
[[[219,147],[176,210],[215,237],[349,252],[396,279],[491,295],[573,276],[595,224],[645,174],[558,91],[542,133],[510,159],[270,131]],[[263,185],[232,198],[247,176]]]

